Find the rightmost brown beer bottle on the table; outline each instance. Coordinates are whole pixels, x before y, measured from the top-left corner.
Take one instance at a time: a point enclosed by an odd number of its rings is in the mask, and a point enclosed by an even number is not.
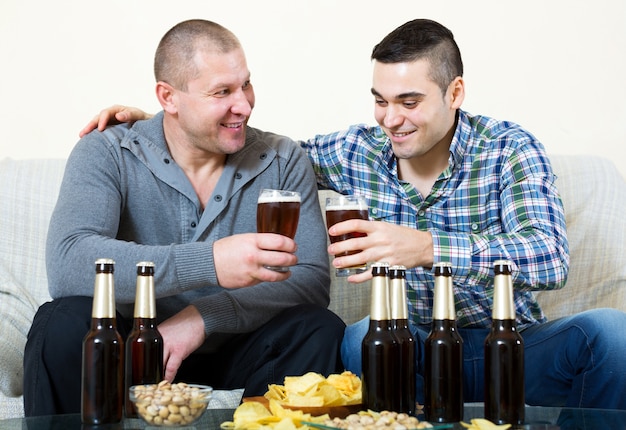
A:
[[[511,263],[494,263],[493,316],[485,339],[485,418],[524,422],[524,342],[515,326]]]

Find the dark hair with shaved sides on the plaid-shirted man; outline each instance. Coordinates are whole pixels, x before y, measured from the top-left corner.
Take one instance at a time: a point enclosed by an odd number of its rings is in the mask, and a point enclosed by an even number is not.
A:
[[[421,59],[430,63],[430,78],[444,94],[454,78],[463,76],[463,61],[454,35],[429,19],[414,19],[401,25],[372,51],[372,60],[387,64]]]

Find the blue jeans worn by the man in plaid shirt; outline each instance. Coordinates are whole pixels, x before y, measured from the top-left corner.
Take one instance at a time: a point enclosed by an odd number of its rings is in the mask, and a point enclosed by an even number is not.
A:
[[[361,374],[366,317],[346,328],[341,357]],[[430,326],[411,326],[416,340],[417,397],[424,404],[424,341]],[[484,401],[483,342],[489,329],[459,329],[463,337],[463,394]],[[529,327],[524,339],[526,403],[540,406],[626,409],[626,313],[594,309]]]

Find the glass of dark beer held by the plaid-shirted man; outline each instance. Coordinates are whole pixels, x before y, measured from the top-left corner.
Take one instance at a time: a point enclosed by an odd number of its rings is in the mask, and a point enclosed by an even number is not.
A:
[[[326,226],[328,228],[341,221],[349,219],[363,219],[367,220],[367,201],[364,196],[350,195],[350,196],[333,196],[326,198]],[[341,242],[342,240],[353,239],[356,237],[363,237],[365,233],[353,231],[348,234],[342,234],[339,236],[328,236],[331,243]],[[344,252],[335,255],[335,257],[341,257],[345,255],[356,254],[359,251]],[[350,276],[356,273],[363,273],[367,270],[367,264],[360,266],[344,267],[336,269],[336,276]]]

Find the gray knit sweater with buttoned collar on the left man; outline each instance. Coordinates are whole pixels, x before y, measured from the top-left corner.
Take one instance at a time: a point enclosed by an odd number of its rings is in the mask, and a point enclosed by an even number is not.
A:
[[[285,282],[222,288],[213,242],[256,232],[261,188],[302,195],[298,265]],[[167,149],[162,113],[82,138],[68,159],[50,222],[50,295],[93,295],[97,258],[116,262],[115,296],[125,317],[132,317],[136,263],[154,261],[159,321],[192,303],[207,335],[249,332],[296,304],[329,302],[326,229],[310,162],[292,140],[250,127],[204,211]]]

